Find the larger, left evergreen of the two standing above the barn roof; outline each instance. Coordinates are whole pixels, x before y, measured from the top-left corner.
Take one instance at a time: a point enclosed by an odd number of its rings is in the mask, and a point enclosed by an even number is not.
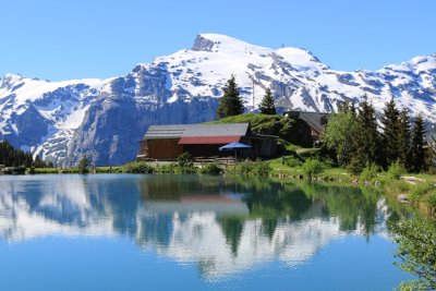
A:
[[[231,75],[231,77],[227,81],[227,84],[222,90],[223,95],[219,101],[217,110],[218,118],[242,114],[244,112],[244,106],[239,95],[234,75]]]

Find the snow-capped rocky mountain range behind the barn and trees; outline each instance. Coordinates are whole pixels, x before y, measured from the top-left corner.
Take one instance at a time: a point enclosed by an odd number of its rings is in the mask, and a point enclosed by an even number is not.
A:
[[[228,36],[198,35],[191,49],[137,64],[110,80],[0,78],[0,138],[66,163],[132,160],[148,125],[215,119],[222,86],[235,75],[247,110],[265,89],[286,109],[335,111],[365,95],[378,111],[390,98],[436,123],[436,53],[378,71],[342,72],[310,51],[269,49]],[[254,92],[253,92],[254,90]]]

